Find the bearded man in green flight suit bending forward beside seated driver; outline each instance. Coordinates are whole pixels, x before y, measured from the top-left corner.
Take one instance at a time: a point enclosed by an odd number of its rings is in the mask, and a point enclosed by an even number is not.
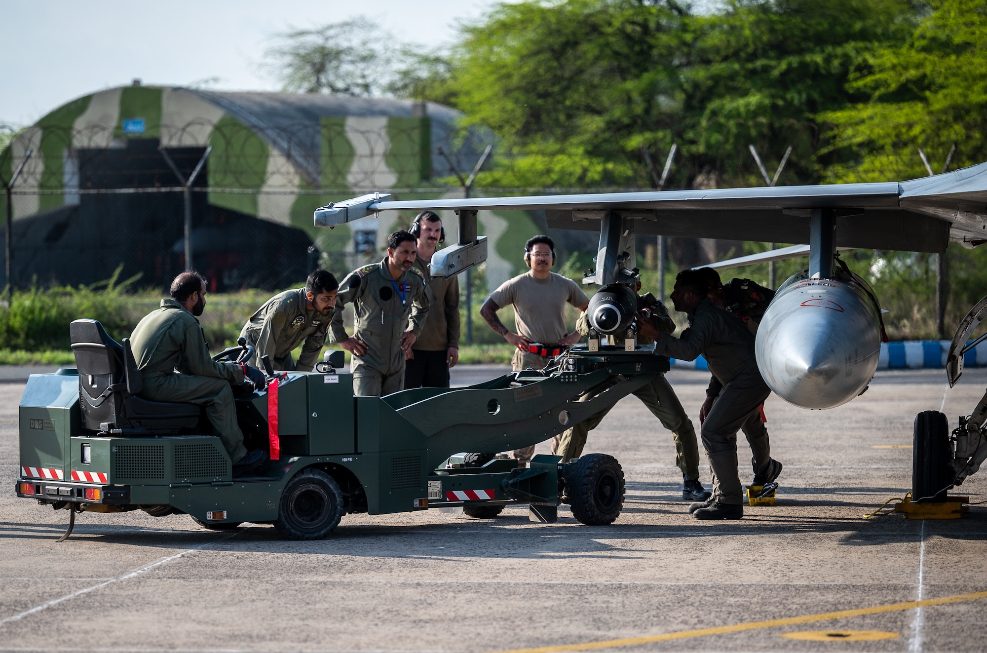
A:
[[[333,321],[339,289],[331,272],[316,270],[309,274],[304,288],[285,290],[268,299],[240,331],[255,348],[255,358],[247,362],[267,355],[275,370],[311,372]],[[295,363],[291,352],[303,342]]]

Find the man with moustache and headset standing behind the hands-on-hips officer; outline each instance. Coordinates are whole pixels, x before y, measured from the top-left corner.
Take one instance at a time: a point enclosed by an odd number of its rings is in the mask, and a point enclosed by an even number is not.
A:
[[[431,276],[432,254],[445,242],[442,219],[436,213],[418,213],[409,233],[418,239],[415,267],[425,278],[429,309],[415,346],[407,354],[405,388],[448,388],[449,368],[459,361],[459,277]]]

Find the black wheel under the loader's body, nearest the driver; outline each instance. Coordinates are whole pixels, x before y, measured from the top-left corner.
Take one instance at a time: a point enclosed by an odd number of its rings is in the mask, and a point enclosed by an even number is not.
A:
[[[344,512],[340,485],[328,473],[308,469],[285,485],[274,528],[291,540],[322,540]]]

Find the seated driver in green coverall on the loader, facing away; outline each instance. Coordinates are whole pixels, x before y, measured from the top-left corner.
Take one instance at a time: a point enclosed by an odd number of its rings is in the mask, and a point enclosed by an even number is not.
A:
[[[202,326],[195,319],[205,308],[205,285],[194,270],[175,277],[172,298],[161,300],[161,308],[137,324],[130,347],[144,382],[140,397],[205,406],[213,431],[233,462],[234,475],[242,475],[257,469],[265,452],[248,452],[244,447],[230,384],[250,379],[258,390],[264,390],[266,377],[245,363],[212,360]]]

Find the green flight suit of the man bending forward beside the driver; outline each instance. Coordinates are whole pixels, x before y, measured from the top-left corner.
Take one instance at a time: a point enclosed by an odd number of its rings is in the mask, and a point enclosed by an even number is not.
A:
[[[254,358],[247,364],[258,367],[255,361],[267,355],[275,370],[311,372],[326,341],[333,314],[322,315],[307,306],[304,288],[285,290],[268,299],[240,330],[247,344],[256,349]],[[305,344],[296,364],[291,352],[302,342]]]

